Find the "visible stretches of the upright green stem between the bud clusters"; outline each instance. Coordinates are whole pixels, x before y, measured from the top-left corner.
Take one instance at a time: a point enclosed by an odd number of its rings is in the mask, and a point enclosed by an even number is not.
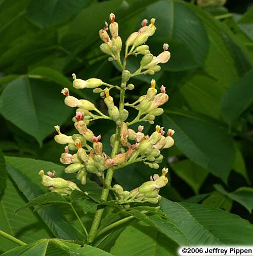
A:
[[[121,88],[120,88],[119,111],[122,111],[122,109],[124,108],[124,93],[125,93],[124,88],[125,88],[125,83],[122,82]],[[111,158],[113,158],[118,153],[119,141],[120,141],[120,130],[121,130],[121,125],[116,127],[115,141],[114,141],[112,152],[111,152]],[[112,177],[113,177],[113,169],[110,168],[107,170],[107,173],[106,173],[105,186],[103,187],[102,193],[101,193],[102,200],[105,200],[105,201],[107,200],[110,187],[111,187]],[[95,213],[94,220],[93,220],[92,227],[89,234],[89,243],[92,243],[96,237],[103,212],[104,212],[104,208],[98,208]]]

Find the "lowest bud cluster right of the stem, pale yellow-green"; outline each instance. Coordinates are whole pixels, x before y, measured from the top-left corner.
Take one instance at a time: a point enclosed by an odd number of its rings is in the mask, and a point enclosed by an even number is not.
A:
[[[150,181],[144,182],[140,187],[132,191],[124,191],[123,188],[116,184],[112,187],[112,191],[115,195],[118,204],[129,204],[129,203],[153,203],[157,204],[161,199],[159,195],[160,188],[164,187],[168,179],[166,173],[167,168],[162,169],[162,175],[154,174],[150,176]]]

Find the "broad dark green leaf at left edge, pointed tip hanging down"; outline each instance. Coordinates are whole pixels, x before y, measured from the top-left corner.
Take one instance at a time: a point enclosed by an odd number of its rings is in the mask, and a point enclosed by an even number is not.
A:
[[[20,77],[3,91],[0,111],[41,145],[43,139],[54,131],[54,125],[63,124],[72,113],[59,96],[60,90],[52,83]]]

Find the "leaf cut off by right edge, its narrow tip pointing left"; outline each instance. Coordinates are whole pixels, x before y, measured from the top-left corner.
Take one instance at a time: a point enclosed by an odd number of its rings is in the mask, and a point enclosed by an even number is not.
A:
[[[243,205],[250,213],[253,209],[253,189],[242,187],[234,192],[227,192],[220,184],[214,185],[215,189],[223,195]]]

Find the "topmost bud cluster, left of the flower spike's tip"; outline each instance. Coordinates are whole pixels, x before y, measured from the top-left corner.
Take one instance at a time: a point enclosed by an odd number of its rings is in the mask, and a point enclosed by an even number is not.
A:
[[[100,50],[108,55],[111,55],[112,59],[109,60],[117,60],[119,57],[119,53],[122,48],[122,41],[120,36],[118,35],[118,23],[115,22],[115,15],[113,13],[109,16],[110,25],[109,30],[111,33],[111,38],[107,32],[108,23],[105,21],[105,26],[103,29],[99,30],[99,36],[104,43],[100,45]]]

